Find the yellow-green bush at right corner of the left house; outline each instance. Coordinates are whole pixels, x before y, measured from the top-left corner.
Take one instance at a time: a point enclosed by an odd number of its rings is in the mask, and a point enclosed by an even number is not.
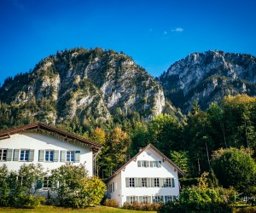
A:
[[[100,204],[106,191],[105,184],[96,177],[89,177],[84,164],[61,165],[52,170],[52,181],[59,205],[84,208]]]

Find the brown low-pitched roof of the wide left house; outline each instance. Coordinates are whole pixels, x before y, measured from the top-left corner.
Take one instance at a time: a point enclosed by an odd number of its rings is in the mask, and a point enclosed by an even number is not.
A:
[[[90,141],[88,139],[85,139],[84,137],[81,137],[79,135],[71,134],[67,131],[57,129],[53,126],[44,124],[44,123],[33,123],[33,124],[27,124],[23,126],[19,126],[17,128],[12,128],[9,130],[2,130],[0,131],[0,140],[4,138],[8,138],[10,135],[14,135],[16,133],[24,132],[27,130],[46,130],[50,133],[54,133],[56,135],[61,135],[64,138],[71,139],[74,141],[79,141],[80,143],[90,147],[93,153],[98,153],[101,150],[101,146],[97,144],[96,142]]]

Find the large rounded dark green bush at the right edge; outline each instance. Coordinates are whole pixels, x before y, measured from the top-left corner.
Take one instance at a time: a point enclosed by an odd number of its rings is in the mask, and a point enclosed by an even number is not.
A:
[[[256,164],[247,153],[229,148],[213,155],[212,168],[223,187],[235,187],[248,193],[256,184]]]

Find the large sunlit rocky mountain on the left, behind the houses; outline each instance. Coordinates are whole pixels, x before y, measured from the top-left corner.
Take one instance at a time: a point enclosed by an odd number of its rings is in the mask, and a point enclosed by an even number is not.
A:
[[[117,110],[152,118],[165,107],[160,84],[130,56],[98,48],[50,55],[31,72],[6,79],[0,101],[10,118],[16,113],[48,124],[74,117],[105,122]]]

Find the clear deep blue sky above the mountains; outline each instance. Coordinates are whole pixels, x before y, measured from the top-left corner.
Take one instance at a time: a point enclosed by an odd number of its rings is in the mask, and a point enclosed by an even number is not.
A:
[[[0,83],[57,50],[123,51],[151,75],[194,52],[256,55],[254,0],[0,0]]]

